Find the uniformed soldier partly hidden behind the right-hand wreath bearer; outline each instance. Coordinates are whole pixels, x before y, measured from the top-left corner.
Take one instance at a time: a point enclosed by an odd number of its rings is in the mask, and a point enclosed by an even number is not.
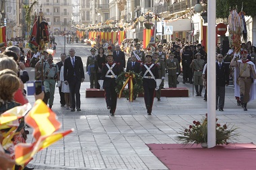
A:
[[[164,61],[160,59],[158,52],[154,52],[153,57],[154,58],[152,59],[152,62],[158,67],[158,77],[159,78],[161,77],[162,79],[159,89],[156,91],[156,98],[158,98],[158,101],[160,101],[161,89],[162,87],[164,87],[165,67],[164,67]]]

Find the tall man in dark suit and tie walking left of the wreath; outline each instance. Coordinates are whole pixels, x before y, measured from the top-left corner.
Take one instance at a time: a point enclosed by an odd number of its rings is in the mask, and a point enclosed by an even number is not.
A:
[[[84,65],[82,58],[75,56],[73,48],[69,49],[69,55],[70,57],[64,62],[64,83],[69,85],[72,100],[71,112],[75,112],[75,107],[77,111],[81,111],[80,86],[84,81]]]

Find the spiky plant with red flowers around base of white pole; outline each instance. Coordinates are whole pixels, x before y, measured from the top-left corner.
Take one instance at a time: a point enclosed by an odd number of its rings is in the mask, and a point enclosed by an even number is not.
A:
[[[228,128],[227,124],[221,126],[217,121],[216,118],[216,144],[229,144],[239,136],[234,132],[237,128]],[[182,144],[201,144],[202,147],[207,147],[207,114],[201,122],[194,120],[193,125],[189,125],[189,128],[184,128],[178,134],[177,139]]]

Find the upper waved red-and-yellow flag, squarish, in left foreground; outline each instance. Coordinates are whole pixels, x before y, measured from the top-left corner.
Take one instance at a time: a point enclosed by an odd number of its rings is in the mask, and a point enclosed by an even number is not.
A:
[[[32,110],[25,116],[25,122],[34,129],[33,136],[36,140],[61,128],[56,114],[41,99],[36,100]]]

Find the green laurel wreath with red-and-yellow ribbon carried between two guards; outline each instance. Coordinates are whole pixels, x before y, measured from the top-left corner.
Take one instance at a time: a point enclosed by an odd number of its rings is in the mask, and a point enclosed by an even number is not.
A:
[[[125,81],[127,81],[128,77],[125,75],[133,75],[133,80],[135,84],[133,84],[133,96],[137,97],[139,93],[143,93],[143,85],[142,85],[142,77],[140,74],[135,73],[134,71],[129,71],[128,73],[121,73],[116,79],[117,86],[115,88],[115,91],[117,93],[120,93],[121,89],[123,88],[123,84]],[[130,96],[130,89],[123,89],[122,94],[126,97],[129,98]]]

